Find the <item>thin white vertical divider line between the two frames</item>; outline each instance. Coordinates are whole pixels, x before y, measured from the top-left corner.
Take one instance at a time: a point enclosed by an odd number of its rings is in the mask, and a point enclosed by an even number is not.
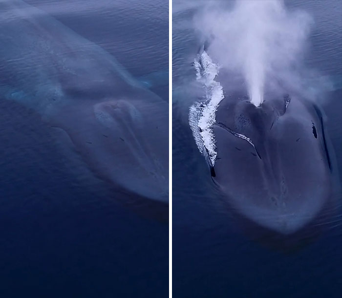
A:
[[[169,298],[172,297],[172,0],[169,0]]]

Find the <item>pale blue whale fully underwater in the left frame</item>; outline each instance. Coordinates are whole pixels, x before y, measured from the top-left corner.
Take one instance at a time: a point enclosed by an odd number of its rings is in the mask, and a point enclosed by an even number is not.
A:
[[[167,204],[168,103],[38,8],[0,0],[0,22],[1,97],[38,112],[118,193]]]

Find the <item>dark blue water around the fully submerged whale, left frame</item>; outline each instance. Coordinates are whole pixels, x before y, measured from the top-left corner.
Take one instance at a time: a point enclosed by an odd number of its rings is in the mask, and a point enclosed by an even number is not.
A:
[[[135,77],[168,69],[167,0],[27,2]],[[167,222],[123,206],[33,111],[0,111],[0,297],[168,297]]]

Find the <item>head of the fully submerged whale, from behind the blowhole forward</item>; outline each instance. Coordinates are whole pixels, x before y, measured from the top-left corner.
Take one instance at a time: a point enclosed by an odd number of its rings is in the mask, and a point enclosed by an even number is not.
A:
[[[168,203],[168,104],[152,92],[73,100],[49,122],[117,196]]]

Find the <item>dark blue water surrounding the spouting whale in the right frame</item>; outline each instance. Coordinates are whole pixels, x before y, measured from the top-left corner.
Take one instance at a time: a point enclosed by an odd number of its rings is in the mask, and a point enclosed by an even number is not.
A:
[[[184,91],[184,82],[189,86],[195,78],[192,62],[200,41],[193,32],[192,18],[203,2],[173,0],[172,7],[173,297],[340,298],[341,213],[334,215],[329,228],[313,243],[284,252],[252,241],[235,225],[227,205],[211,193],[209,170],[187,121],[196,94]],[[286,1],[286,5],[306,10],[315,20],[305,64],[322,75],[341,77],[341,1]],[[341,173],[342,90],[325,97],[326,126]]]

